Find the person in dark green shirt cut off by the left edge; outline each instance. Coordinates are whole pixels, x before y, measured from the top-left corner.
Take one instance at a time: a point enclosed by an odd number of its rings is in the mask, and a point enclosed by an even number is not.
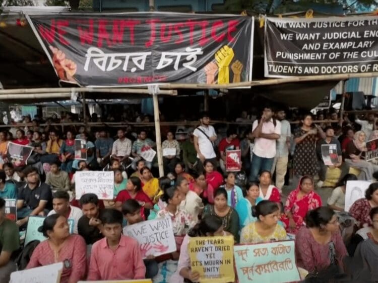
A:
[[[5,217],[5,200],[0,198],[0,282],[9,282],[16,271],[12,255],[20,248],[20,236],[16,223]]]

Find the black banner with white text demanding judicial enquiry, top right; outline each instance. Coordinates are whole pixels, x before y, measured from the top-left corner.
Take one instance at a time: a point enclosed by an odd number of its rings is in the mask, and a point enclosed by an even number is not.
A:
[[[378,72],[378,19],[267,18],[265,76]]]

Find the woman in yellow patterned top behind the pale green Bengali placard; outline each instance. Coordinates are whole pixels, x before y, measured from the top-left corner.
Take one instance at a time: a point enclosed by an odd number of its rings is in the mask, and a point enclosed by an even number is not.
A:
[[[240,244],[257,244],[286,240],[285,229],[278,224],[280,209],[277,203],[261,201],[252,208],[257,221],[246,225],[240,233]]]

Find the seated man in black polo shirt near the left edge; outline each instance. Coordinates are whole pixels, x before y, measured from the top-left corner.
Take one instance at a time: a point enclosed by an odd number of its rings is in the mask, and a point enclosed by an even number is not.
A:
[[[18,226],[28,222],[29,216],[45,216],[52,209],[52,194],[48,184],[39,179],[38,170],[32,166],[24,169],[26,184],[18,188]]]

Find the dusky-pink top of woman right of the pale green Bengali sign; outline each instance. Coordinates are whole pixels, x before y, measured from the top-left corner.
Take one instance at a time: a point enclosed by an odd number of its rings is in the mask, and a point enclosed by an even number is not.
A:
[[[331,242],[335,246],[337,263],[339,266],[343,266],[343,258],[347,255],[347,250],[340,232],[332,235]],[[319,244],[306,227],[300,228],[296,234],[295,253],[297,266],[306,269],[308,272],[325,269],[331,263],[329,244]]]

